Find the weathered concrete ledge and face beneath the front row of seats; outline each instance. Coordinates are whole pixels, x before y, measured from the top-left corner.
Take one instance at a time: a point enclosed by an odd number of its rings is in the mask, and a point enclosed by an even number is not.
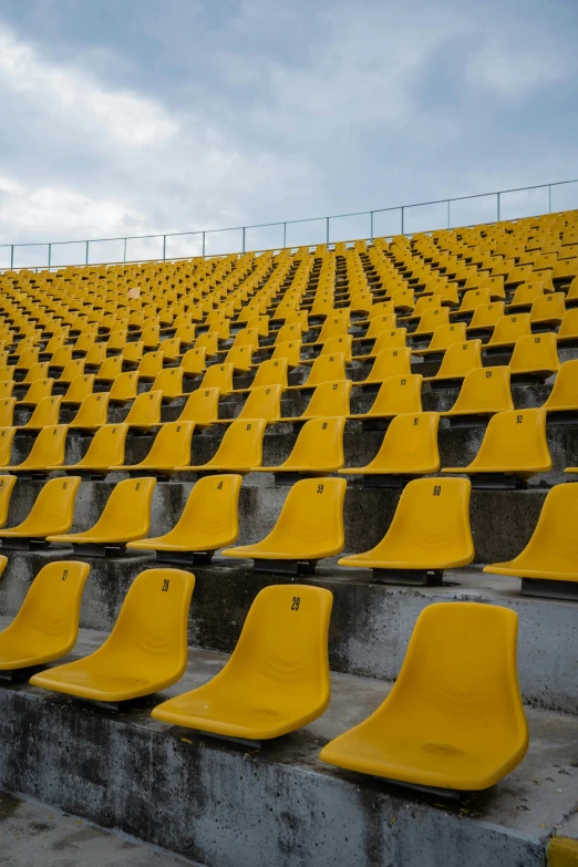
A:
[[[71,659],[101,641],[82,633]],[[381,703],[381,681],[333,675],[323,716],[260,751],[149,718],[225,661],[192,651],[178,684],[116,716],[28,684],[0,689],[0,785],[209,867],[544,867],[548,837],[575,809],[578,723],[565,714],[527,709],[523,764],[461,805],[319,761]]]

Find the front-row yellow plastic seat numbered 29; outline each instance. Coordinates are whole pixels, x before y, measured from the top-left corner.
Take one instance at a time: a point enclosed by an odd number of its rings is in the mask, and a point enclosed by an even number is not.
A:
[[[331,695],[332,602],[332,594],[321,587],[277,585],[260,590],[219,674],[158,704],[152,715],[241,742],[279,737],[316,720]]]

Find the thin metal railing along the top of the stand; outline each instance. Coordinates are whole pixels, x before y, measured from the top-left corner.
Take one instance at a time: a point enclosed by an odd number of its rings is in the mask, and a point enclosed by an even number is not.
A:
[[[556,207],[556,202],[553,203],[553,192],[557,194],[561,187],[568,187],[569,185],[576,185],[572,197],[572,204],[568,204],[565,199],[562,207]],[[544,202],[540,205],[540,195]],[[561,190],[560,190],[561,192]],[[530,194],[530,195],[523,195]],[[514,202],[506,197],[513,197]],[[476,203],[482,204],[482,208],[478,208],[478,214],[474,219],[461,218],[472,217],[473,214],[465,215],[463,208],[456,208],[457,203]],[[554,204],[554,207],[553,207]],[[452,205],[454,208],[452,208]],[[509,209],[508,209],[509,205]],[[524,210],[524,205],[530,207],[530,213],[517,213]],[[516,211],[517,207],[517,211]],[[0,260],[0,270],[12,270],[14,268],[59,268],[65,265],[118,265],[126,262],[140,262],[140,261],[171,261],[177,259],[188,259],[194,256],[221,256],[226,252],[245,252],[247,249],[252,249],[257,252],[265,250],[279,250],[283,248],[295,248],[298,246],[313,246],[314,244],[333,244],[336,240],[344,240],[343,233],[341,237],[333,237],[331,229],[339,226],[338,220],[358,220],[359,228],[355,230],[361,234],[359,238],[365,238],[373,240],[374,237],[392,237],[393,235],[412,235],[415,231],[434,231],[441,228],[455,228],[456,226],[478,225],[500,221],[502,219],[516,219],[523,216],[537,216],[539,214],[551,214],[553,209],[566,210],[572,207],[578,207],[578,179],[575,180],[558,180],[550,184],[537,184],[529,187],[516,187],[514,189],[502,189],[495,193],[478,193],[473,196],[456,196],[454,198],[435,199],[433,202],[421,202],[413,205],[396,205],[389,208],[375,208],[373,210],[353,211],[350,214],[334,214],[328,217],[307,217],[305,219],[282,220],[276,223],[260,223],[251,226],[236,226],[226,229],[198,229],[194,231],[178,231],[178,233],[165,233],[163,235],[134,235],[118,238],[93,238],[91,240],[73,240],[73,241],[43,241],[31,244],[0,244],[0,250],[4,249],[9,251],[6,265]],[[432,217],[432,208],[436,209],[433,216],[433,221],[437,221],[437,225],[425,227],[420,225],[420,211],[422,209],[422,217],[424,209],[427,211],[427,219]],[[512,210],[514,208],[514,210]],[[457,220],[455,220],[457,210]],[[512,213],[510,213],[512,211]],[[442,216],[443,215],[443,216]],[[415,217],[417,216],[417,220]],[[412,225],[412,217],[413,224]],[[453,220],[454,218],[454,220]],[[362,220],[362,221],[361,221]],[[454,221],[454,225],[452,225]],[[288,228],[305,226],[306,224],[316,224],[318,231],[316,237],[311,236],[310,240],[293,240],[288,242]],[[443,224],[443,225],[442,225]],[[351,224],[350,224],[351,225]],[[341,224],[343,226],[343,223]],[[280,237],[277,244],[259,245],[248,244],[250,233],[265,229],[278,229]],[[367,229],[367,231],[365,231]],[[221,237],[224,235],[230,238],[231,233],[236,238],[237,244],[230,242],[228,249],[216,250],[213,242],[217,235]],[[348,236],[345,236],[348,237]],[[173,239],[188,239],[193,242],[193,247],[185,255],[174,255],[174,240]],[[262,231],[259,239],[262,239]],[[349,239],[353,236],[350,234]],[[168,244],[167,244],[168,241]],[[291,238],[289,238],[291,241]],[[133,257],[130,245],[140,244],[141,248],[146,248],[146,255],[144,258]],[[122,258],[95,258],[94,252],[96,245],[116,245],[118,254],[122,249]],[[155,249],[155,245],[157,249]],[[59,256],[55,256],[63,247],[74,246],[80,247],[80,261],[55,261]],[[173,246],[173,250],[171,247]],[[231,249],[231,247],[237,249]],[[30,261],[28,264],[18,264],[18,254],[21,250],[30,249],[45,250],[45,258],[41,258],[38,261]],[[213,249],[211,249],[213,248]],[[91,257],[91,251],[93,256]],[[172,255],[173,252],[173,255]],[[182,254],[183,251],[179,250]],[[155,255],[157,254],[157,255]],[[34,258],[34,257],[32,257]]]

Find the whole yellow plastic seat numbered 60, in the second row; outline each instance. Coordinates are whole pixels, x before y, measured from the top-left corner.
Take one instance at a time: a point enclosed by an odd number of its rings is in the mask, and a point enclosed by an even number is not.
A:
[[[393,520],[371,550],[340,566],[373,569],[385,584],[436,585],[445,569],[474,559],[467,478],[416,478],[403,489]]]

